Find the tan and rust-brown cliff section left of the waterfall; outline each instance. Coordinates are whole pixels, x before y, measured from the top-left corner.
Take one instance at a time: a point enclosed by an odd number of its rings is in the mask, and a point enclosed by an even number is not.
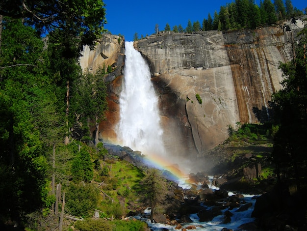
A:
[[[85,47],[79,62],[83,71],[95,73],[99,68],[112,67],[112,72],[102,77],[107,83],[108,111],[106,119],[100,123],[100,138],[112,142],[116,140],[115,126],[119,121],[119,95],[122,90],[123,68],[125,64],[125,40],[117,35],[103,34],[94,50]],[[91,129],[94,132],[94,127]]]

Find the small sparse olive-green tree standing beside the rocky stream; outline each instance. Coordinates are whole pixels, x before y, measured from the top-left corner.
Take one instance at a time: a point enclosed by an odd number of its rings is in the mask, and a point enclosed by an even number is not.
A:
[[[155,208],[165,200],[167,192],[166,182],[157,169],[150,169],[142,182],[146,201],[152,207],[151,222],[153,223]]]

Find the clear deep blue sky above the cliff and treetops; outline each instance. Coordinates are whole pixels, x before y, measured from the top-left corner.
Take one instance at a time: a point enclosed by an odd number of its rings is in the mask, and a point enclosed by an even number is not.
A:
[[[188,20],[202,24],[208,13],[212,18],[214,11],[220,11],[221,5],[232,0],[103,0],[106,4],[104,26],[112,34],[122,34],[126,41],[132,41],[135,32],[139,38],[143,34],[154,33],[155,25],[163,30],[166,23],[171,26],[181,24],[186,28]],[[272,2],[274,0],[271,0]],[[256,0],[259,4],[260,0]],[[307,6],[306,0],[292,0],[294,7],[302,10]]]

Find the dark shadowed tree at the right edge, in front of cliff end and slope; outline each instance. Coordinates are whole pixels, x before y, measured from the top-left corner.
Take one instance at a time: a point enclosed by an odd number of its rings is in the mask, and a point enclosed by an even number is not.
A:
[[[304,175],[301,171],[306,168],[307,162],[306,26],[298,36],[300,40],[295,47],[296,56],[290,62],[280,64],[282,89],[274,93],[272,98],[275,103],[275,121],[279,124],[272,155],[279,168],[295,166],[296,177]]]

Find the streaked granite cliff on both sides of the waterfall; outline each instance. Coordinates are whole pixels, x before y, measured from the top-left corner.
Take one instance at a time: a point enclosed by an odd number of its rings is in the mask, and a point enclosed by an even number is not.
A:
[[[255,30],[164,32],[136,41],[159,95],[168,149],[177,155],[204,153],[227,139],[229,125],[269,119],[271,94],[281,88],[279,62],[290,60],[303,27],[298,19]],[[115,35],[104,37],[80,63],[83,69],[103,63],[114,69],[106,77],[109,112],[101,124],[102,138],[112,140],[124,43]]]

